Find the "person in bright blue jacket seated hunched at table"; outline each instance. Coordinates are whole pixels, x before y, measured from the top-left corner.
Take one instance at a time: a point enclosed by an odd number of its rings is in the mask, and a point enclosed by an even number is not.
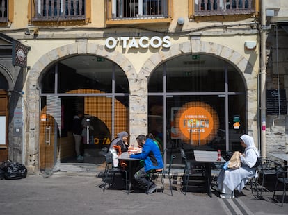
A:
[[[138,135],[136,140],[139,146],[143,146],[142,153],[131,154],[130,157],[144,160],[144,166],[135,173],[134,178],[141,189],[147,189],[147,187],[149,187],[147,193],[151,194],[154,193],[157,187],[156,184],[147,180],[147,173],[152,169],[163,168],[161,152],[157,143],[150,138],[146,138],[145,135]]]

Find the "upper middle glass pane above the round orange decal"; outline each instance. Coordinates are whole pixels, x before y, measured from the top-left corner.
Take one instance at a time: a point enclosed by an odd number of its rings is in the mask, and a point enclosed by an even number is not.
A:
[[[209,55],[184,55],[169,60],[167,92],[224,91],[224,65],[223,60]]]

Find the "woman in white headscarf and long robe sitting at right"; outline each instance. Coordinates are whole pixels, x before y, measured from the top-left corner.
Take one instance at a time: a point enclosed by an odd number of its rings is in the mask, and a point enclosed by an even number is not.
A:
[[[234,189],[241,191],[249,178],[253,178],[256,174],[255,164],[259,152],[255,147],[253,137],[242,135],[241,146],[245,148],[243,154],[240,155],[241,167],[239,169],[222,169],[218,175],[218,187],[213,189],[221,192],[221,198],[234,198]]]

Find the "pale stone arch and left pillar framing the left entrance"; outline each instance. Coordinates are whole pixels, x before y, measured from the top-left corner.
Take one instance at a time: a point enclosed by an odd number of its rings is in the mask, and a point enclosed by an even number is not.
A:
[[[29,120],[26,128],[26,148],[27,157],[29,157],[27,166],[29,169],[31,169],[31,171],[37,169],[37,165],[39,164],[39,81],[42,71],[49,65],[61,60],[62,58],[85,54],[98,55],[100,57],[107,58],[118,64],[123,71],[125,71],[128,79],[136,78],[136,72],[133,65],[127,58],[125,58],[124,55],[122,55],[122,53],[115,50],[107,51],[104,46],[99,44],[90,44],[86,39],[77,40],[77,42],[73,44],[52,49],[48,53],[45,53],[45,55],[42,55],[40,59],[35,62],[35,65],[31,67],[31,71],[29,71],[26,82],[25,94],[27,105],[29,105]]]

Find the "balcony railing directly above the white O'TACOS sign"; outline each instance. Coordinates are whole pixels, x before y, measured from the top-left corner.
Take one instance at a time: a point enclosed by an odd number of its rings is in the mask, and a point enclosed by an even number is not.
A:
[[[106,0],[106,19],[163,19],[170,16],[171,0]]]

